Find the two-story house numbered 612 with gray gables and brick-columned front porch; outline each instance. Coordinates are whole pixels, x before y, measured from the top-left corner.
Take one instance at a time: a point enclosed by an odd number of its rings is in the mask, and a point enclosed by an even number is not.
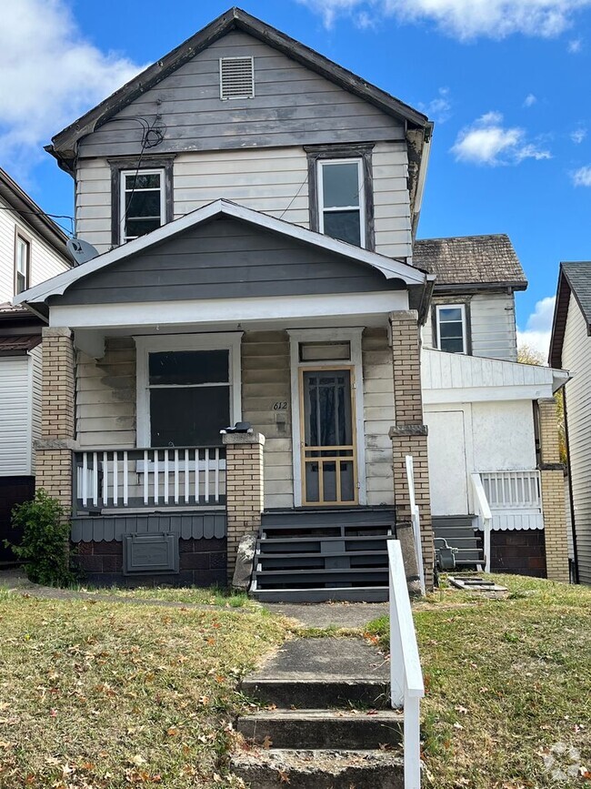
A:
[[[92,580],[224,581],[256,531],[260,597],[384,598],[412,455],[431,584],[431,135],[231,9],[54,137],[102,254],[17,301],[49,321],[40,482]]]

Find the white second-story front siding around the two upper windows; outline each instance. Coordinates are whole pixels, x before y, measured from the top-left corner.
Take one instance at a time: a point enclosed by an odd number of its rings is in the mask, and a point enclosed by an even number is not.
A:
[[[376,252],[411,254],[404,143],[377,143],[372,153]],[[303,147],[194,151],[175,157],[175,218],[225,197],[247,208],[309,226],[308,171]],[[76,233],[99,252],[111,248],[111,168],[81,159],[76,173]]]

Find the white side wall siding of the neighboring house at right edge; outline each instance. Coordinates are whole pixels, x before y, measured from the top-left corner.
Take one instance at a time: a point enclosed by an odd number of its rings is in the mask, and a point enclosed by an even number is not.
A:
[[[591,338],[587,337],[586,320],[572,296],[562,365],[573,376],[565,390],[579,578],[591,583]]]

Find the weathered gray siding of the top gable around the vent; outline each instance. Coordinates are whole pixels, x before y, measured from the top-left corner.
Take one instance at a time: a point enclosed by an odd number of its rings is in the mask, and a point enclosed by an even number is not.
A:
[[[222,101],[219,58],[255,57],[255,97]],[[252,35],[232,31],[135,99],[80,143],[81,157],[140,153],[143,116],[165,123],[148,153],[404,139],[396,118],[296,63]]]

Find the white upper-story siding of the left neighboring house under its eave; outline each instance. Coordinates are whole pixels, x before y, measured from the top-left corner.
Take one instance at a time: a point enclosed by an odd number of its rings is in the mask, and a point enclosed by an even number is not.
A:
[[[55,277],[69,266],[45,240],[37,238],[25,222],[0,200],[0,302],[10,301],[15,295],[15,228],[31,241],[30,285],[39,285]]]

